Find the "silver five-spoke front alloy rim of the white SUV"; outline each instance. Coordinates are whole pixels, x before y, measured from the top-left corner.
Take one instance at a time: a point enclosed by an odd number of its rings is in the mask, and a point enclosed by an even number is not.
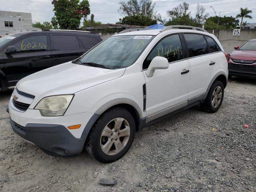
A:
[[[107,155],[121,152],[130,138],[130,125],[124,118],[111,120],[100,136],[100,147]]]

